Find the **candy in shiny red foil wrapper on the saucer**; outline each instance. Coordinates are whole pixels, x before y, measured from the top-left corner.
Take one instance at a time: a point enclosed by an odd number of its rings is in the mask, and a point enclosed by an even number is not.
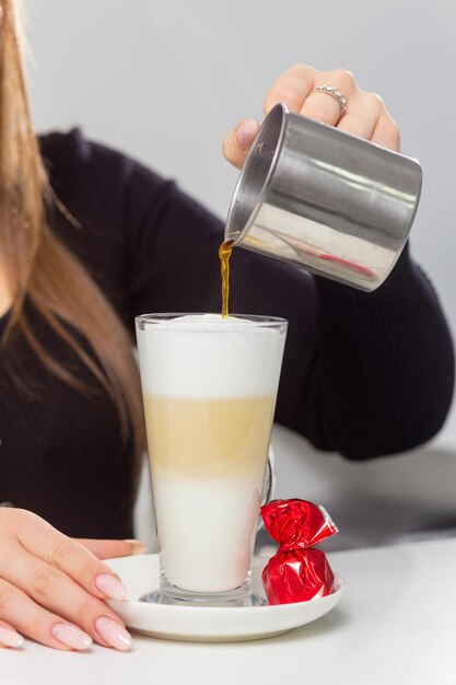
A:
[[[269,604],[305,602],[332,592],[335,574],[313,545],[338,532],[323,507],[302,499],[278,499],[261,507],[269,535],[280,544],[262,571]]]

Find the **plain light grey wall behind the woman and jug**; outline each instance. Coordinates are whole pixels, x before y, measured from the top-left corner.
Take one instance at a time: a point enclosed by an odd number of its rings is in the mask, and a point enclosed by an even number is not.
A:
[[[452,0],[25,0],[36,128],[121,149],[226,213],[237,176],[223,136],[261,119],[294,62],[349,68],[382,94],[424,187],[412,248],[456,332],[454,163],[456,4]],[[436,441],[456,450],[456,417]]]

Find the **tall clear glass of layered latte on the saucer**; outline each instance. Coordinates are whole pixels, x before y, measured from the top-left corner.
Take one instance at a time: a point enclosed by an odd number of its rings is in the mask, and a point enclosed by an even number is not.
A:
[[[255,604],[249,576],[287,322],[136,320],[162,603]]]

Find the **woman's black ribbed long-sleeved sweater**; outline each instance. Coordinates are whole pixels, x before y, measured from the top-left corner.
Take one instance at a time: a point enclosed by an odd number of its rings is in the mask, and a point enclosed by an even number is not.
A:
[[[57,196],[81,222],[52,227],[131,332],[145,312],[219,312],[223,225],[176,186],[79,131],[42,151]],[[384,286],[362,293],[235,249],[233,313],[289,320],[276,420],[353,460],[429,440],[448,410],[453,347],[435,293],[406,249]],[[87,305],[90,305],[87,303]],[[28,306],[40,341],[89,372]],[[0,335],[8,313],[0,318]],[[51,376],[21,336],[12,348],[28,391],[0,356],[0,502],[35,511],[63,532],[130,537],[132,457],[115,409]],[[280,458],[280,455],[279,455]]]

